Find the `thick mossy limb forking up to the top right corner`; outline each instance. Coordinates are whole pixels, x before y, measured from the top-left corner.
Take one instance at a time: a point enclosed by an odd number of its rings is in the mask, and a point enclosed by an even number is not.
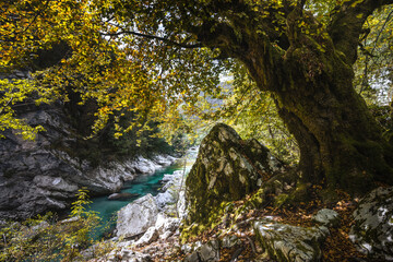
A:
[[[392,3],[393,0],[350,0],[333,10],[327,32],[335,48],[346,56],[348,63],[354,64],[357,59],[359,37],[367,17],[376,9]]]

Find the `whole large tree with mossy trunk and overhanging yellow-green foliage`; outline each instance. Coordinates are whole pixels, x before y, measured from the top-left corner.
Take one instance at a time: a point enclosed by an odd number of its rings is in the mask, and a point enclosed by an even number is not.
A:
[[[393,147],[353,83],[364,24],[392,3],[5,1],[2,67],[27,64],[21,53],[68,43],[72,53],[38,72],[39,86],[57,91],[72,82],[75,91],[95,97],[100,128],[124,108],[140,112],[135,124],[146,119],[179,124],[181,103],[183,112],[192,112],[200,94],[219,93],[219,72],[241,63],[257,88],[271,93],[295,136],[300,180],[361,193],[376,181],[393,183]]]

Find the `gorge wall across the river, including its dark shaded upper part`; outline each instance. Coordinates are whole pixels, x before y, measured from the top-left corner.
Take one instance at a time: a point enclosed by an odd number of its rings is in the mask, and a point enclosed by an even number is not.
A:
[[[27,78],[19,72],[14,78]],[[20,118],[31,126],[41,124],[35,141],[25,141],[14,130],[0,139],[0,219],[24,219],[49,210],[63,210],[78,189],[86,187],[92,195],[118,191],[138,174],[154,172],[170,165],[174,157],[150,150],[146,159],[139,152],[120,155],[108,145],[108,133],[85,140],[91,132],[94,104],[70,103],[15,106]],[[132,152],[131,152],[132,153]],[[155,155],[157,153],[157,155]]]

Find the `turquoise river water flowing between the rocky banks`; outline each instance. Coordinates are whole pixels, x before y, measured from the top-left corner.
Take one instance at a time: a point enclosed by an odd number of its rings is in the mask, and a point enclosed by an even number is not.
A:
[[[166,174],[174,174],[174,171],[182,169],[181,165],[172,165],[167,168],[156,170],[152,175],[139,175],[134,180],[124,183],[122,193],[138,193],[135,198],[129,200],[108,200],[108,196],[100,196],[92,199],[93,203],[90,204],[87,211],[94,211],[98,213],[102,218],[103,226],[97,230],[95,238],[103,237],[103,234],[108,230],[107,228],[114,228],[116,225],[116,213],[133,200],[141,198],[147,193],[156,195],[159,188],[163,186],[160,180]]]

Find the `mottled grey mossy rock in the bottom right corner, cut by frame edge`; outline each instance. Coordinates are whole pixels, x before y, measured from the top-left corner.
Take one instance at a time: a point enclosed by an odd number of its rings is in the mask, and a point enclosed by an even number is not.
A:
[[[393,188],[378,188],[354,212],[349,238],[374,261],[393,261]]]

